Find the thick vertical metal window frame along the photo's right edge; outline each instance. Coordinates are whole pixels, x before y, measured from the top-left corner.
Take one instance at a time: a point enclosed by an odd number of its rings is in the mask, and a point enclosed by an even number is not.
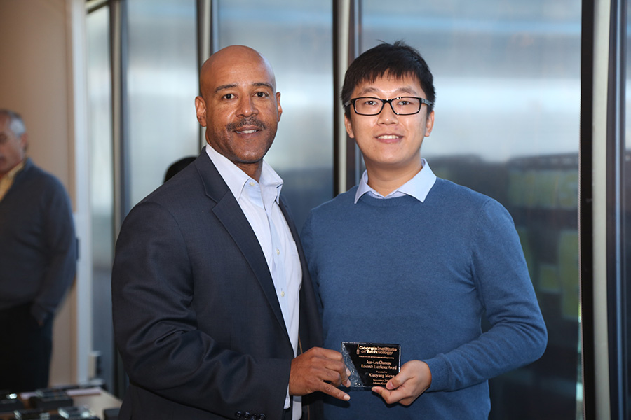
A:
[[[627,418],[626,0],[583,0],[579,235],[583,416]]]

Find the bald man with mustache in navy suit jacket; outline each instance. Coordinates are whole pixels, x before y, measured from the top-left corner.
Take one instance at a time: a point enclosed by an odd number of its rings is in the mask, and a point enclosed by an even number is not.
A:
[[[312,393],[348,400],[348,372],[319,347],[282,180],[263,162],[282,113],[273,71],[233,45],[202,66],[200,90],[208,150],[130,211],[116,244],[114,332],[130,377],[119,418],[315,419]]]

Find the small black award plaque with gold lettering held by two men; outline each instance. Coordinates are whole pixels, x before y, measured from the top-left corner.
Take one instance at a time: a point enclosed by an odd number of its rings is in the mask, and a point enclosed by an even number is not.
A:
[[[386,386],[401,369],[400,344],[342,342],[341,353],[351,371],[351,388]]]

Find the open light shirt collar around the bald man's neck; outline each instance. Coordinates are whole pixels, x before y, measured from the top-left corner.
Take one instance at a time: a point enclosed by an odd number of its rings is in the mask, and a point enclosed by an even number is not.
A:
[[[208,157],[212,160],[212,163],[217,168],[217,171],[222,176],[237,201],[243,193],[245,184],[255,182],[261,187],[263,197],[272,196],[273,201],[280,204],[280,190],[283,188],[283,179],[280,178],[276,171],[274,171],[267,162],[263,161],[261,177],[257,182],[255,179],[243,172],[238,166],[234,165],[231,160],[215,151],[212,146],[206,144],[205,147]],[[264,201],[266,200],[264,199]]]

